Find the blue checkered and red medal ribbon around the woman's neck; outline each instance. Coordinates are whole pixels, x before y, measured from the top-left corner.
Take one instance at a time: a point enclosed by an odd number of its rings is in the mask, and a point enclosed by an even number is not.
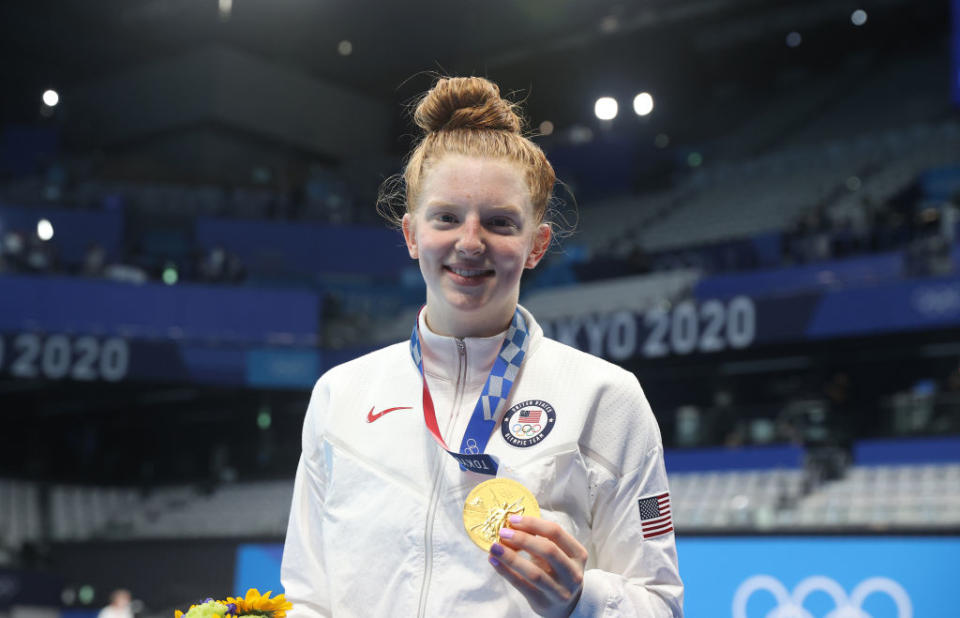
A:
[[[500,353],[493,362],[490,375],[487,376],[487,381],[480,392],[477,405],[473,408],[470,423],[467,425],[467,430],[463,434],[463,441],[460,443],[460,452],[454,452],[443,440],[443,436],[440,435],[440,427],[437,424],[437,413],[433,407],[433,398],[430,396],[427,377],[423,372],[423,354],[420,348],[420,316],[417,316],[417,321],[413,325],[413,333],[410,335],[410,356],[413,357],[413,362],[420,370],[420,378],[423,380],[423,420],[426,422],[427,429],[430,430],[434,440],[460,463],[461,469],[492,476],[497,475],[497,461],[483,451],[496,428],[497,412],[500,405],[509,397],[510,391],[513,389],[513,383],[517,379],[517,374],[520,373],[520,365],[523,364],[523,359],[527,354],[529,340],[526,321],[523,319],[520,310],[517,309],[513,313],[513,320],[510,322],[510,328],[507,329],[507,335],[503,338]]]

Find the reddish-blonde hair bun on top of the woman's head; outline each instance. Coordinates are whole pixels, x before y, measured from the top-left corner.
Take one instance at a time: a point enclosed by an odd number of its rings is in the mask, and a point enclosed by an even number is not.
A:
[[[482,77],[448,77],[427,92],[413,120],[424,131],[489,129],[520,132],[514,104],[500,96],[500,88]]]

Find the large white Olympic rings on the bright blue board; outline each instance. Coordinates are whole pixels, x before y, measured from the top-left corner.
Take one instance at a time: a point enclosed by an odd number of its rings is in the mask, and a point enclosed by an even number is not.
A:
[[[846,591],[836,581],[823,575],[813,575],[797,584],[793,594],[775,577],[754,575],[748,578],[733,595],[733,618],[747,618],[747,601],[755,592],[766,591],[777,600],[777,607],[766,618],[814,618],[803,607],[803,602],[812,592],[826,592],[836,604],[836,609],[825,618],[872,618],[863,611],[864,600],[874,593],[886,594],[897,607],[897,618],[913,618],[913,605],[903,586],[886,577],[870,577],[853,589]]]

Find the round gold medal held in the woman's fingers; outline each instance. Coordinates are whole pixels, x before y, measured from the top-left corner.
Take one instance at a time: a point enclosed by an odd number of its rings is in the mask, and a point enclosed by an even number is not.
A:
[[[473,488],[463,505],[463,527],[480,549],[500,538],[500,529],[509,525],[511,515],[540,517],[540,506],[530,490],[505,478],[490,479]]]

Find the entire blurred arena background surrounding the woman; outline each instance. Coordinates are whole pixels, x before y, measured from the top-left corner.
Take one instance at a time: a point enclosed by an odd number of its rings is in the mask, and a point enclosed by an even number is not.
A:
[[[375,203],[435,73],[566,183],[521,301],[643,384],[687,615],[960,615],[957,0],[12,0],[0,49],[0,616],[281,591],[310,387],[424,298]]]

